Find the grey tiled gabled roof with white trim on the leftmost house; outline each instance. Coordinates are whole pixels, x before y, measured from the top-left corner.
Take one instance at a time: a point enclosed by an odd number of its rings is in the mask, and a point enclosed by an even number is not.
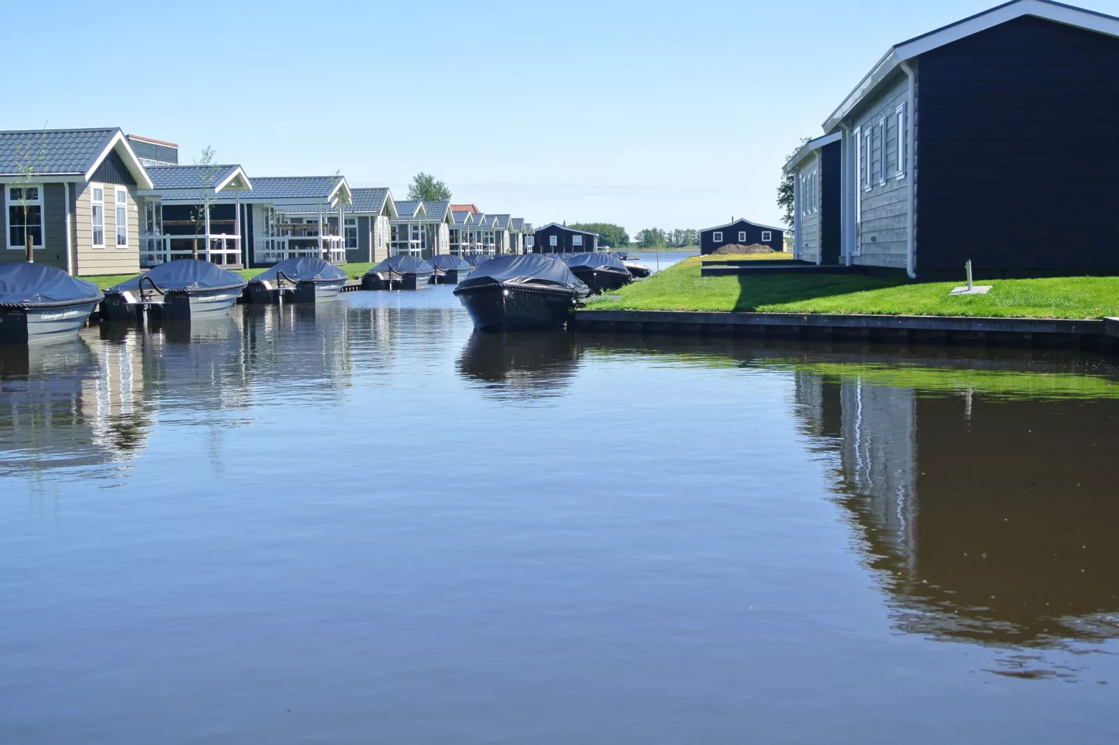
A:
[[[115,151],[141,189],[152,187],[120,129],[0,132],[0,177],[19,175],[20,145],[28,151],[35,176],[75,176],[88,181]]]

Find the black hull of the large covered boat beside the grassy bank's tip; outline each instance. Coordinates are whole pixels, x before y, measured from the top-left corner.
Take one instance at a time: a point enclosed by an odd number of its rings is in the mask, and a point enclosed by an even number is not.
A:
[[[459,287],[454,294],[479,331],[557,329],[575,303],[571,290],[514,283]]]

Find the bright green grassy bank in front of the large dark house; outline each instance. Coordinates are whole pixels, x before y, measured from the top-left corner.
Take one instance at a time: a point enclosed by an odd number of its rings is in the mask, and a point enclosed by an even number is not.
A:
[[[1119,315],[1119,277],[995,280],[986,295],[950,296],[961,282],[910,283],[859,275],[699,276],[688,258],[618,293],[594,310],[761,313],[872,313],[1089,319]]]

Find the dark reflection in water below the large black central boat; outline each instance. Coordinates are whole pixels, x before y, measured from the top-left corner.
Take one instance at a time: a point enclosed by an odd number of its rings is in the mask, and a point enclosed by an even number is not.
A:
[[[459,374],[514,396],[547,395],[567,384],[580,362],[573,334],[563,329],[526,333],[471,334],[459,357]]]

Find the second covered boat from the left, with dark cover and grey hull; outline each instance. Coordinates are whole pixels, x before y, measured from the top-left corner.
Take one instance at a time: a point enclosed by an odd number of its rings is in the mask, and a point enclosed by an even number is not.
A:
[[[159,318],[189,321],[228,313],[248,282],[217,264],[180,258],[105,291],[105,318],[128,321],[144,310]]]

